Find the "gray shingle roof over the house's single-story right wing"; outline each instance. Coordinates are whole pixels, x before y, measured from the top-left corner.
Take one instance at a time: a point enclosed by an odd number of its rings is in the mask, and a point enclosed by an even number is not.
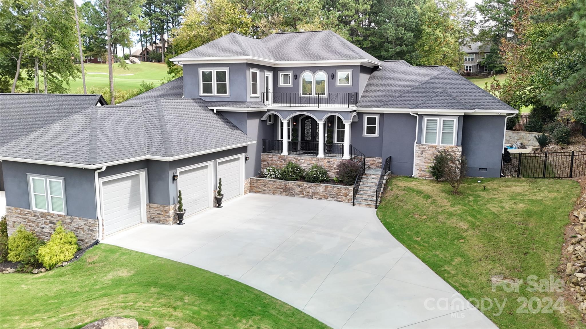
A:
[[[516,109],[445,66],[384,61],[370,75],[358,107],[404,109]]]

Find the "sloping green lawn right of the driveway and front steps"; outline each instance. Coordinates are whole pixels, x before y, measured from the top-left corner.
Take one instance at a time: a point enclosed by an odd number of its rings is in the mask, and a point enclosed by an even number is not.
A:
[[[390,180],[377,215],[384,226],[466,299],[497,299],[505,309],[486,311],[499,328],[584,328],[577,309],[565,313],[517,313],[519,297],[560,297],[530,292],[527,277],[561,279],[563,232],[580,195],[571,180],[468,179],[461,195],[447,183],[397,177]],[[486,185],[486,190],[483,186]],[[491,277],[522,279],[519,292],[492,290]],[[571,295],[573,296],[573,295]],[[546,303],[543,301],[543,306]],[[537,307],[534,301],[533,307]],[[527,310],[527,309],[525,309]]]

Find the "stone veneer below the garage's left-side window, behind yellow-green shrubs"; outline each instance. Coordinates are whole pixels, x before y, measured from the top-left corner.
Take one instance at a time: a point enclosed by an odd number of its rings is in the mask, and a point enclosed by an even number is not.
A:
[[[12,235],[19,225],[23,225],[27,231],[33,232],[37,237],[48,241],[55,230],[57,222],[61,221],[63,227],[69,229],[77,237],[77,244],[84,248],[98,238],[98,221],[90,218],[66,216],[43,211],[30,210],[17,207],[6,207],[6,224],[8,235]]]

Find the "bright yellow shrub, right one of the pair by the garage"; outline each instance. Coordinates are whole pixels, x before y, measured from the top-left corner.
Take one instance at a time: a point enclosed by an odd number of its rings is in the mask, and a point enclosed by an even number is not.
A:
[[[57,222],[51,238],[45,245],[40,246],[37,256],[46,269],[52,269],[73,258],[77,249],[75,234],[64,229],[61,222]]]

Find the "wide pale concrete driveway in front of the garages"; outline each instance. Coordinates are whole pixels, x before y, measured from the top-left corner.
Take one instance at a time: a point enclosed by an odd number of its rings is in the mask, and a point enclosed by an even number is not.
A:
[[[401,245],[374,209],[247,194],[102,241],[246,283],[333,328],[496,328]]]

